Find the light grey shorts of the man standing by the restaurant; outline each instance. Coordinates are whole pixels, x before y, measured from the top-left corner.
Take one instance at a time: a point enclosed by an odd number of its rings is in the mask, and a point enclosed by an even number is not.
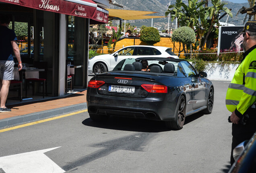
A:
[[[14,61],[0,60],[0,79],[13,80]]]

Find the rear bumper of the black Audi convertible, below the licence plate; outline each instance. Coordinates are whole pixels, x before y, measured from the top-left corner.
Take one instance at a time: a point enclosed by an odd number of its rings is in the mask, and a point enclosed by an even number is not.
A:
[[[117,98],[90,95],[87,91],[87,108],[90,114],[171,121],[174,118],[176,103],[168,103],[166,97]]]

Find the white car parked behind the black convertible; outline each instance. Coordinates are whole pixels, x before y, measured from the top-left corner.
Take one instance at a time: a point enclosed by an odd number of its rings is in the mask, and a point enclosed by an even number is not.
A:
[[[113,68],[125,58],[139,57],[162,57],[162,58],[179,58],[172,51],[172,48],[162,46],[126,46],[112,54],[103,54],[94,56],[89,59],[89,73],[103,73],[111,71]]]

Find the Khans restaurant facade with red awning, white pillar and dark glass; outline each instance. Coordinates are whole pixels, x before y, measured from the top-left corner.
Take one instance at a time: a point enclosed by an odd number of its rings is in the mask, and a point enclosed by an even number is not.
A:
[[[102,8],[108,5],[109,0],[0,0],[0,14],[11,16],[12,29],[27,27],[27,35],[18,36],[22,62],[44,69],[48,96],[66,94],[69,64],[74,87],[86,89],[89,25],[108,22]]]

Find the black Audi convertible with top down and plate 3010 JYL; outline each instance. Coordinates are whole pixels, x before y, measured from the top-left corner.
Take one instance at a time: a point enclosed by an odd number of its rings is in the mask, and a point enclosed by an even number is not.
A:
[[[142,61],[148,64],[142,71]],[[96,74],[88,84],[87,108],[94,121],[109,116],[165,121],[182,129],[185,117],[213,110],[214,87],[205,72],[186,60],[127,58],[113,71]]]

